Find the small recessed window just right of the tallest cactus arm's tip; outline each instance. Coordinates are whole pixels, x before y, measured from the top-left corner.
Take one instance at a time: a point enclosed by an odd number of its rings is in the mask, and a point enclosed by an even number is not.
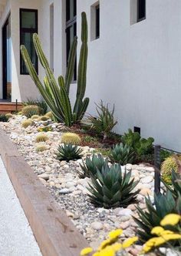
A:
[[[91,40],[100,38],[100,4],[91,6]]]

